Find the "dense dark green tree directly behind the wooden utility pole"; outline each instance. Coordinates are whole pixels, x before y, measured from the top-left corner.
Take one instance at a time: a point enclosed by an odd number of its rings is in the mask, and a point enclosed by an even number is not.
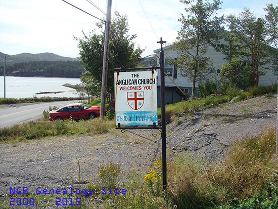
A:
[[[104,29],[105,23],[97,24],[101,30],[101,34],[95,31],[85,35],[79,39],[79,55],[81,61],[86,64],[84,75],[91,76],[97,83],[102,82],[102,66],[103,66],[103,49],[104,49]],[[115,12],[115,16],[111,20],[110,26],[110,43],[109,43],[109,60],[107,75],[107,100],[114,98],[114,68],[124,67],[128,64],[140,59],[143,50],[135,48],[133,43],[136,35],[129,35],[129,26],[126,15],[120,15]],[[134,67],[132,64],[129,67]],[[91,79],[89,79],[91,81]],[[84,79],[84,82],[86,80]]]

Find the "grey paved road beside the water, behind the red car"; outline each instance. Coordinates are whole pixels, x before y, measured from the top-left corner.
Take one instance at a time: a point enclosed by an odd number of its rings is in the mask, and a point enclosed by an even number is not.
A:
[[[79,102],[73,101],[57,101],[57,102],[39,102],[39,103],[27,103],[27,104],[11,104],[0,105],[0,128],[10,127],[14,124],[19,124],[29,120],[42,117],[43,110],[49,110],[49,106],[56,106],[58,108]]]

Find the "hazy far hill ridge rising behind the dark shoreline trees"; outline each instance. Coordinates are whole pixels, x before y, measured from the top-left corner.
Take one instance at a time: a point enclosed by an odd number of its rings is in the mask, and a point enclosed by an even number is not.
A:
[[[18,55],[7,55],[0,52],[0,63],[1,63],[0,65],[3,65],[5,56],[6,56],[7,65],[12,65],[21,62],[34,62],[34,61],[78,61],[77,58],[62,57],[53,53],[40,53],[40,54],[22,53]]]

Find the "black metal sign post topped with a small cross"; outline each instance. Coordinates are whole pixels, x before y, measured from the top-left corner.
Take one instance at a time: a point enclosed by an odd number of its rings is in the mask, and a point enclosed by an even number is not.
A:
[[[167,165],[166,165],[166,119],[165,119],[165,76],[164,76],[164,51],[162,45],[166,43],[160,38],[160,97],[161,97],[161,143],[162,143],[162,186],[167,187]]]

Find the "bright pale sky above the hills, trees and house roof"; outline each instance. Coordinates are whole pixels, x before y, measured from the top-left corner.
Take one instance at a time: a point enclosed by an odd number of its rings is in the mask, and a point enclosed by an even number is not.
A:
[[[104,19],[105,15],[90,4],[107,12],[107,0],[66,0],[70,4]],[[266,13],[266,4],[278,6],[278,0],[222,0],[219,16],[238,15],[250,8],[256,17]],[[160,37],[172,44],[180,29],[178,19],[186,5],[179,0],[112,0],[115,11],[127,15],[129,34],[136,34],[136,47],[145,49],[142,57],[154,54],[160,48]],[[55,53],[65,57],[79,57],[78,41],[84,31],[89,34],[100,22],[97,18],[77,10],[62,0],[0,0],[0,52],[9,55],[20,53]]]

